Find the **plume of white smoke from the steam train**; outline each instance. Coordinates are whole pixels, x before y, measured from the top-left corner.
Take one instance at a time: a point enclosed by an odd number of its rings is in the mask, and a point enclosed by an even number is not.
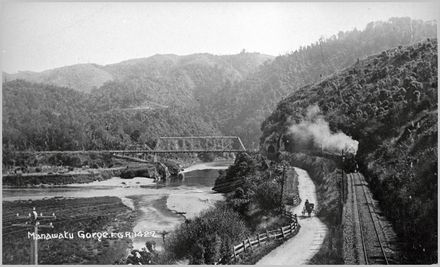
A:
[[[356,154],[359,142],[343,132],[333,133],[328,122],[320,114],[317,105],[307,108],[306,118],[289,127],[295,143],[313,145],[315,149],[323,149],[332,153],[350,152]]]

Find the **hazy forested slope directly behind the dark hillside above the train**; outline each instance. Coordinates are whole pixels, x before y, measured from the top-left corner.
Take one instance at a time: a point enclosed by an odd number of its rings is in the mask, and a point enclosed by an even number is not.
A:
[[[296,89],[346,68],[383,50],[437,36],[435,22],[392,18],[371,22],[363,30],[339,32],[328,39],[275,58],[247,79],[225,83],[202,105],[225,134],[257,144],[260,125],[276,103]]]

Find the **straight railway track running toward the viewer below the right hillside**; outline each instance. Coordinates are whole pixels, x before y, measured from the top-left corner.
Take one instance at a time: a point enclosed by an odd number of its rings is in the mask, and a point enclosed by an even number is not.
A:
[[[358,218],[355,233],[360,239],[358,262],[359,264],[390,264],[390,253],[385,230],[377,216],[374,202],[367,192],[367,183],[360,173],[347,174],[349,185],[353,192],[353,215]]]

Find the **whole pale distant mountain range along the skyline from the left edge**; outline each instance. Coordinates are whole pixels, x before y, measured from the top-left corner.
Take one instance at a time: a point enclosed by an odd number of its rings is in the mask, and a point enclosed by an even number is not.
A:
[[[81,92],[107,93],[116,85],[130,90],[142,100],[160,104],[194,105],[200,91],[215,90],[216,83],[242,80],[258,66],[273,57],[242,52],[216,56],[192,54],[187,56],[154,55],[110,65],[77,64],[43,72],[4,74],[6,81],[15,79],[69,87]],[[110,85],[109,85],[110,84]],[[121,92],[120,92],[121,93]],[[133,103],[135,104],[135,103]]]

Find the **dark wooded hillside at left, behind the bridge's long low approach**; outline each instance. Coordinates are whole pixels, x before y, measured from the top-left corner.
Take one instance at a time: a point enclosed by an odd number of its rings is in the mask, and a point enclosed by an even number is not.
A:
[[[96,101],[69,88],[4,83],[3,149],[111,149],[152,146],[159,136],[218,134],[191,109],[107,110]]]

